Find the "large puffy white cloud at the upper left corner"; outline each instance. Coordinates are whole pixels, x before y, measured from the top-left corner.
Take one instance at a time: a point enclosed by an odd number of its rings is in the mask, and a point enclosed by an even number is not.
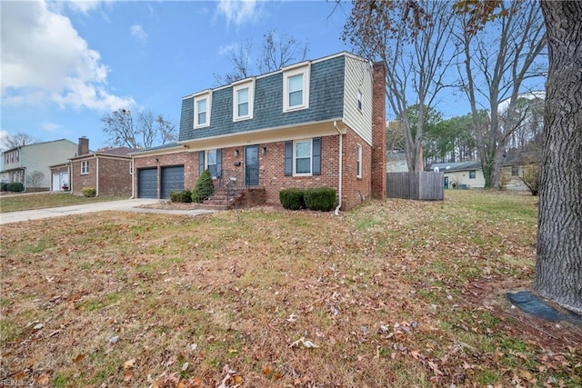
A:
[[[109,69],[67,17],[44,1],[6,2],[2,8],[2,104],[104,111],[135,104],[107,91]]]

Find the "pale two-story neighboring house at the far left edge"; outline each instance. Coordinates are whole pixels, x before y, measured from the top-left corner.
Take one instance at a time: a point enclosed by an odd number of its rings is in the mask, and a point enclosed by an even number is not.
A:
[[[26,175],[39,171],[45,176],[35,184],[35,189],[50,190],[52,177],[49,166],[75,156],[76,151],[77,144],[66,139],[15,147],[2,153],[4,168],[0,175],[5,176],[6,183],[19,182],[28,189]]]

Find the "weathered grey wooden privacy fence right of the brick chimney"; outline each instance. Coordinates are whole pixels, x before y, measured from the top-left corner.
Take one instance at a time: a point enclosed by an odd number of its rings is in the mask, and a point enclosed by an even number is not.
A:
[[[444,173],[388,173],[386,196],[388,198],[443,200],[445,198]]]

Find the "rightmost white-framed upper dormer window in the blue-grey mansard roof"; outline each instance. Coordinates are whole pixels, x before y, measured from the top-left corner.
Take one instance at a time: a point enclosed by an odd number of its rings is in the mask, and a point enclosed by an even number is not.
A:
[[[283,69],[283,112],[309,107],[310,72],[309,63]]]

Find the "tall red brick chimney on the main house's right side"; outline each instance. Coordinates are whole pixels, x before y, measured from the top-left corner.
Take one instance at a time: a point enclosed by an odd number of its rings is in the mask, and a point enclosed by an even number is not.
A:
[[[386,197],[386,68],[374,64],[372,85],[372,197]]]

